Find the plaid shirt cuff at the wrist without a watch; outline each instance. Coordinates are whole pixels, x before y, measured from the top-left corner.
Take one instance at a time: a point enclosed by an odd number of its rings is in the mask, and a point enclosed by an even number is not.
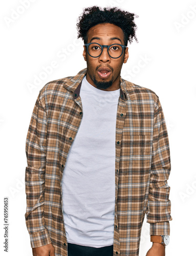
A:
[[[31,247],[40,247],[52,243],[48,230],[45,229],[41,232],[30,233]]]

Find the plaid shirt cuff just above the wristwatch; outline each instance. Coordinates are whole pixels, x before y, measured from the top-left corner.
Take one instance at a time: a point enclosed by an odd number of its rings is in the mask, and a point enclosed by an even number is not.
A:
[[[170,234],[169,221],[150,223],[150,235],[163,236]]]

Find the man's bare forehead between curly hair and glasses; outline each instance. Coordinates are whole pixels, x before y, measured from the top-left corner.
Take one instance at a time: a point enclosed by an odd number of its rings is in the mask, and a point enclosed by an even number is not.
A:
[[[91,41],[93,37],[110,40],[111,38],[118,37],[123,42],[124,33],[122,29],[114,24],[105,23],[105,24],[98,24],[88,31],[88,42]]]

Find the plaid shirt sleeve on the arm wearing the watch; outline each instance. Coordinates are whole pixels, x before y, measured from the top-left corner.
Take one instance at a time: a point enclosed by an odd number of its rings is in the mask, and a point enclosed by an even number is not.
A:
[[[154,117],[153,151],[146,217],[150,223],[150,235],[160,236],[170,233],[169,221],[171,203],[170,187],[167,180],[170,174],[170,152],[166,123],[158,98]]]

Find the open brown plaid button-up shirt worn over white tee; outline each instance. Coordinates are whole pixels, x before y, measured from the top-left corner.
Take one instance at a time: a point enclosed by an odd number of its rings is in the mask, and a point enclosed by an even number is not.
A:
[[[85,74],[86,69],[40,90],[26,141],[25,217],[31,246],[52,242],[55,256],[68,255],[61,179],[82,120],[80,87]],[[115,161],[114,255],[138,255],[145,214],[150,234],[169,234],[170,154],[159,97],[122,78]]]

